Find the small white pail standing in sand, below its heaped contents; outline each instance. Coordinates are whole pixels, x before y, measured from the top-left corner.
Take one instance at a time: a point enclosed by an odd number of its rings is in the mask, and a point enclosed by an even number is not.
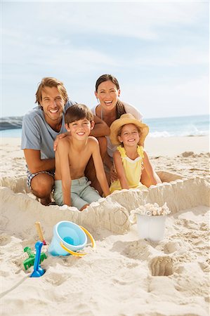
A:
[[[141,239],[159,242],[164,239],[166,216],[147,216],[136,214],[138,235]]]

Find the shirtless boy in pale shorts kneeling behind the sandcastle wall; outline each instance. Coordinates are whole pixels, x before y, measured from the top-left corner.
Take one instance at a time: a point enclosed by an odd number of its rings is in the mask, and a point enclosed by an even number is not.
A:
[[[82,211],[100,199],[98,192],[90,186],[91,181],[84,176],[91,156],[105,197],[110,194],[98,140],[89,136],[93,127],[93,114],[86,105],[72,105],[67,109],[65,128],[70,136],[59,140],[55,152],[54,199],[58,205],[76,206]]]

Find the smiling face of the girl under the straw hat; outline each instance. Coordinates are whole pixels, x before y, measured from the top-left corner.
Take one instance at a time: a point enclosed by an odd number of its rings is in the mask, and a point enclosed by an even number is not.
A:
[[[124,125],[118,139],[120,143],[124,144],[124,146],[136,147],[140,140],[138,128],[134,124]]]

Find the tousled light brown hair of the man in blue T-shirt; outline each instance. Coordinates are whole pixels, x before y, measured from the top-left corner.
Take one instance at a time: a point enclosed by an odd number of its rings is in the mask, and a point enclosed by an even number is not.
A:
[[[57,88],[58,91],[60,92],[64,102],[67,103],[67,100],[69,98],[68,98],[65,86],[63,85],[63,82],[61,82],[58,79],[55,79],[53,77],[46,77],[46,78],[43,78],[41,80],[41,83],[39,84],[37,92],[36,92],[36,103],[38,103],[39,106],[41,106],[41,93],[46,86],[48,88],[53,88],[53,87]]]

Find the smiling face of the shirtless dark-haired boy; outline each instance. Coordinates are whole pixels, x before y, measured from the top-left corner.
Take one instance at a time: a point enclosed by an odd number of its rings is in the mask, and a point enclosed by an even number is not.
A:
[[[65,124],[67,131],[71,133],[72,138],[77,140],[86,140],[94,127],[94,121],[88,121],[88,119],[79,119],[78,121],[72,121],[72,123]]]

